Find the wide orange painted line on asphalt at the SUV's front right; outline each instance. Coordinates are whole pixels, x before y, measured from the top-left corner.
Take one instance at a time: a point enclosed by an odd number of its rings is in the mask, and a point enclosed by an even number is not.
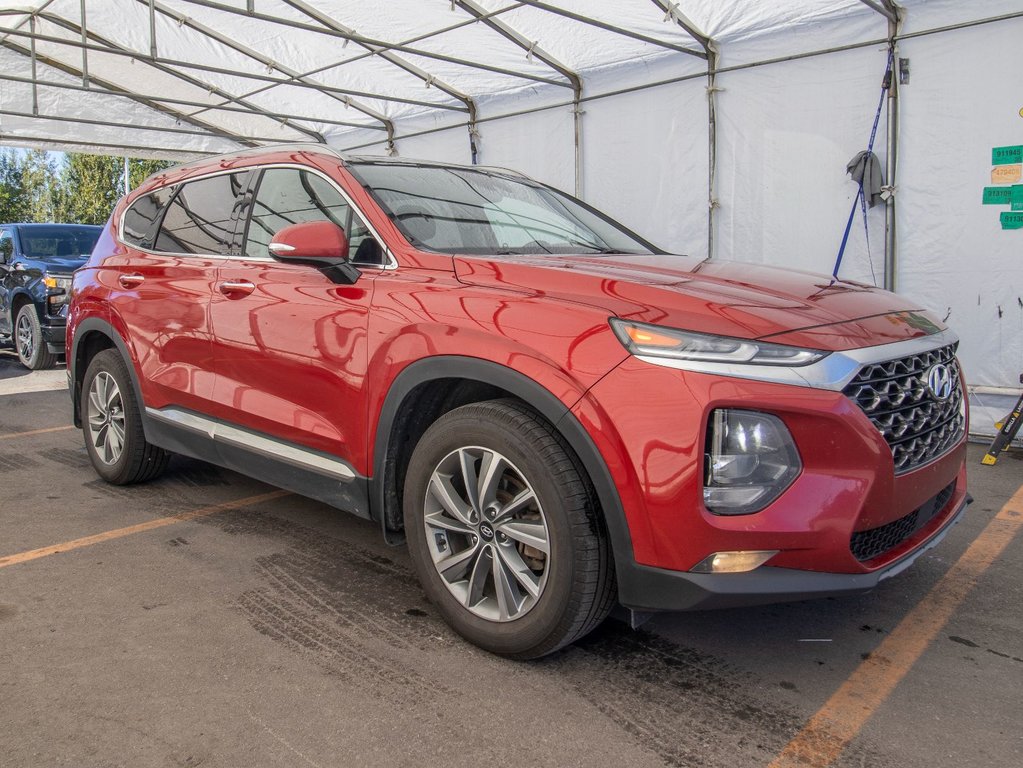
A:
[[[1023,487],[948,573],[835,691],[769,768],[826,768],[862,729],[930,645],[977,579],[1023,527]]]

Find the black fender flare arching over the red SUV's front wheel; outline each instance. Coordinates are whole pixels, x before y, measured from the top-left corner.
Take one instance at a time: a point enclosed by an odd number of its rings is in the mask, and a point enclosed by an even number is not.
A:
[[[622,574],[623,569],[627,570],[634,558],[632,537],[629,534],[622,500],[604,457],[579,419],[547,389],[519,371],[488,360],[457,355],[439,355],[412,363],[394,379],[384,401],[384,407],[376,421],[376,440],[373,444],[374,482],[370,492],[370,503],[374,514],[380,516],[385,538],[393,540],[393,535],[387,530],[384,513],[387,492],[384,478],[388,442],[395,418],[402,402],[412,390],[419,385],[441,378],[463,378],[499,387],[525,402],[554,426],[579,458],[596,492],[608,536],[611,539],[616,571]]]

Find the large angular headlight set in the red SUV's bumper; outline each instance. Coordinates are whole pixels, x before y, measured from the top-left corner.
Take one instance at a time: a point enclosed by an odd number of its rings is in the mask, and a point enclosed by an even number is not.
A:
[[[732,408],[710,414],[706,464],[704,505],[715,514],[760,511],[803,468],[782,419]]]

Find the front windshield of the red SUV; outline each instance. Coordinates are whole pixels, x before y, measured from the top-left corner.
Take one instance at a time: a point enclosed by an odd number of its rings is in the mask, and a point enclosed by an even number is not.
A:
[[[650,254],[656,249],[584,204],[528,179],[470,168],[357,163],[406,239],[444,254]]]

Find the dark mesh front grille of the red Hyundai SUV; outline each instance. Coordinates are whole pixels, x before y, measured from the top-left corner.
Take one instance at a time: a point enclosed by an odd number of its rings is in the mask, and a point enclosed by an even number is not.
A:
[[[842,390],[878,427],[891,447],[895,473],[936,459],[963,437],[966,418],[955,346],[863,366]],[[931,368],[944,363],[952,391],[938,400],[927,386]]]

